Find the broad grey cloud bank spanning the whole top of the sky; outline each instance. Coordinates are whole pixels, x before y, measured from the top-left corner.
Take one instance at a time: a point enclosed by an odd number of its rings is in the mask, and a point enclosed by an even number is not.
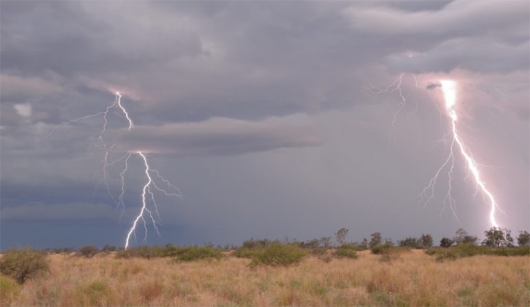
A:
[[[2,8],[5,79],[66,88],[63,104],[94,101],[76,97],[83,87],[121,90],[148,124],[345,108],[365,100],[352,85],[384,74],[380,64],[393,73],[528,66],[524,2],[39,1]],[[13,97],[6,95],[3,101]],[[57,97],[35,102],[41,120],[57,121]],[[86,103],[72,109],[94,110]],[[63,113],[68,120],[70,110]]]

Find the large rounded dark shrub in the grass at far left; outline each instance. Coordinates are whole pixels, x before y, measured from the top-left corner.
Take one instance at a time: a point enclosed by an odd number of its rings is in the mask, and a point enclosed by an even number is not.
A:
[[[0,272],[19,284],[49,270],[46,253],[32,248],[10,249],[0,259]]]

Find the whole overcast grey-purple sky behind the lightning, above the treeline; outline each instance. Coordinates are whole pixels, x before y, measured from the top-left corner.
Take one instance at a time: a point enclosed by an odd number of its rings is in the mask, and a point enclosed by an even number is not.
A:
[[[1,248],[124,245],[143,162],[130,158],[121,212],[123,161],[109,166],[108,189],[101,181],[103,118],[60,125],[106,110],[118,90],[135,127],[110,110],[109,159],[142,150],[182,194],[155,195],[160,237],[148,224],[146,244],[306,240],[343,227],[349,241],[482,235],[489,204],[461,156],[455,214],[447,169],[429,204],[419,197],[451,145],[440,79],[457,83],[458,131],[504,211],[500,226],[530,228],[528,1],[0,9]],[[140,227],[132,244],[143,238]]]

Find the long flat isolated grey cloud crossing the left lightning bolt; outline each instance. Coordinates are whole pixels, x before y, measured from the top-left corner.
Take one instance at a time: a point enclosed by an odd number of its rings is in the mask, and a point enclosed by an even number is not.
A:
[[[193,157],[320,145],[314,128],[293,126],[295,121],[296,117],[265,121],[214,118],[197,123],[139,126],[122,134],[117,150]]]

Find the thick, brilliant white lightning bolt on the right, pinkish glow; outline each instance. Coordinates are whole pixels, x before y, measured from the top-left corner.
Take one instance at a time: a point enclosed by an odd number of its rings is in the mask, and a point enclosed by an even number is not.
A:
[[[462,141],[462,137],[458,135],[458,129],[456,122],[458,121],[458,115],[455,110],[455,106],[457,103],[456,100],[456,83],[455,81],[451,80],[441,80],[440,81],[442,85],[442,92],[445,99],[445,112],[446,115],[449,116],[451,119],[451,132],[452,132],[452,140],[451,140],[451,146],[449,150],[449,155],[447,156],[446,160],[438,168],[438,170],[435,172],[435,175],[431,178],[429,181],[429,184],[422,190],[420,193],[420,196],[426,197],[425,204],[429,204],[431,199],[433,199],[434,196],[434,188],[436,185],[436,181],[438,180],[438,176],[440,175],[440,172],[444,170],[447,166],[449,166],[449,172],[447,173],[449,177],[449,189],[447,190],[446,197],[444,199],[444,208],[446,205],[449,205],[451,210],[453,211],[453,215],[458,220],[458,217],[455,213],[455,201],[453,197],[451,196],[451,191],[453,189],[452,181],[453,181],[453,170],[455,167],[455,151],[460,152],[460,155],[464,158],[464,161],[466,162],[467,171],[471,173],[473,179],[475,180],[476,184],[476,192],[479,190],[482,191],[484,195],[484,200],[489,202],[490,205],[490,211],[489,211],[489,222],[491,226],[498,228],[498,223],[495,219],[495,212],[496,210],[500,210],[498,208],[498,204],[495,201],[495,198],[493,197],[493,194],[486,188],[486,184],[484,183],[484,180],[480,176],[480,172],[478,170],[478,165],[475,159],[473,159],[473,155],[471,155],[471,150],[467,146],[465,146],[464,141]],[[430,193],[429,193],[430,191]],[[500,210],[502,212],[502,210]],[[443,212],[443,211],[442,211]]]

